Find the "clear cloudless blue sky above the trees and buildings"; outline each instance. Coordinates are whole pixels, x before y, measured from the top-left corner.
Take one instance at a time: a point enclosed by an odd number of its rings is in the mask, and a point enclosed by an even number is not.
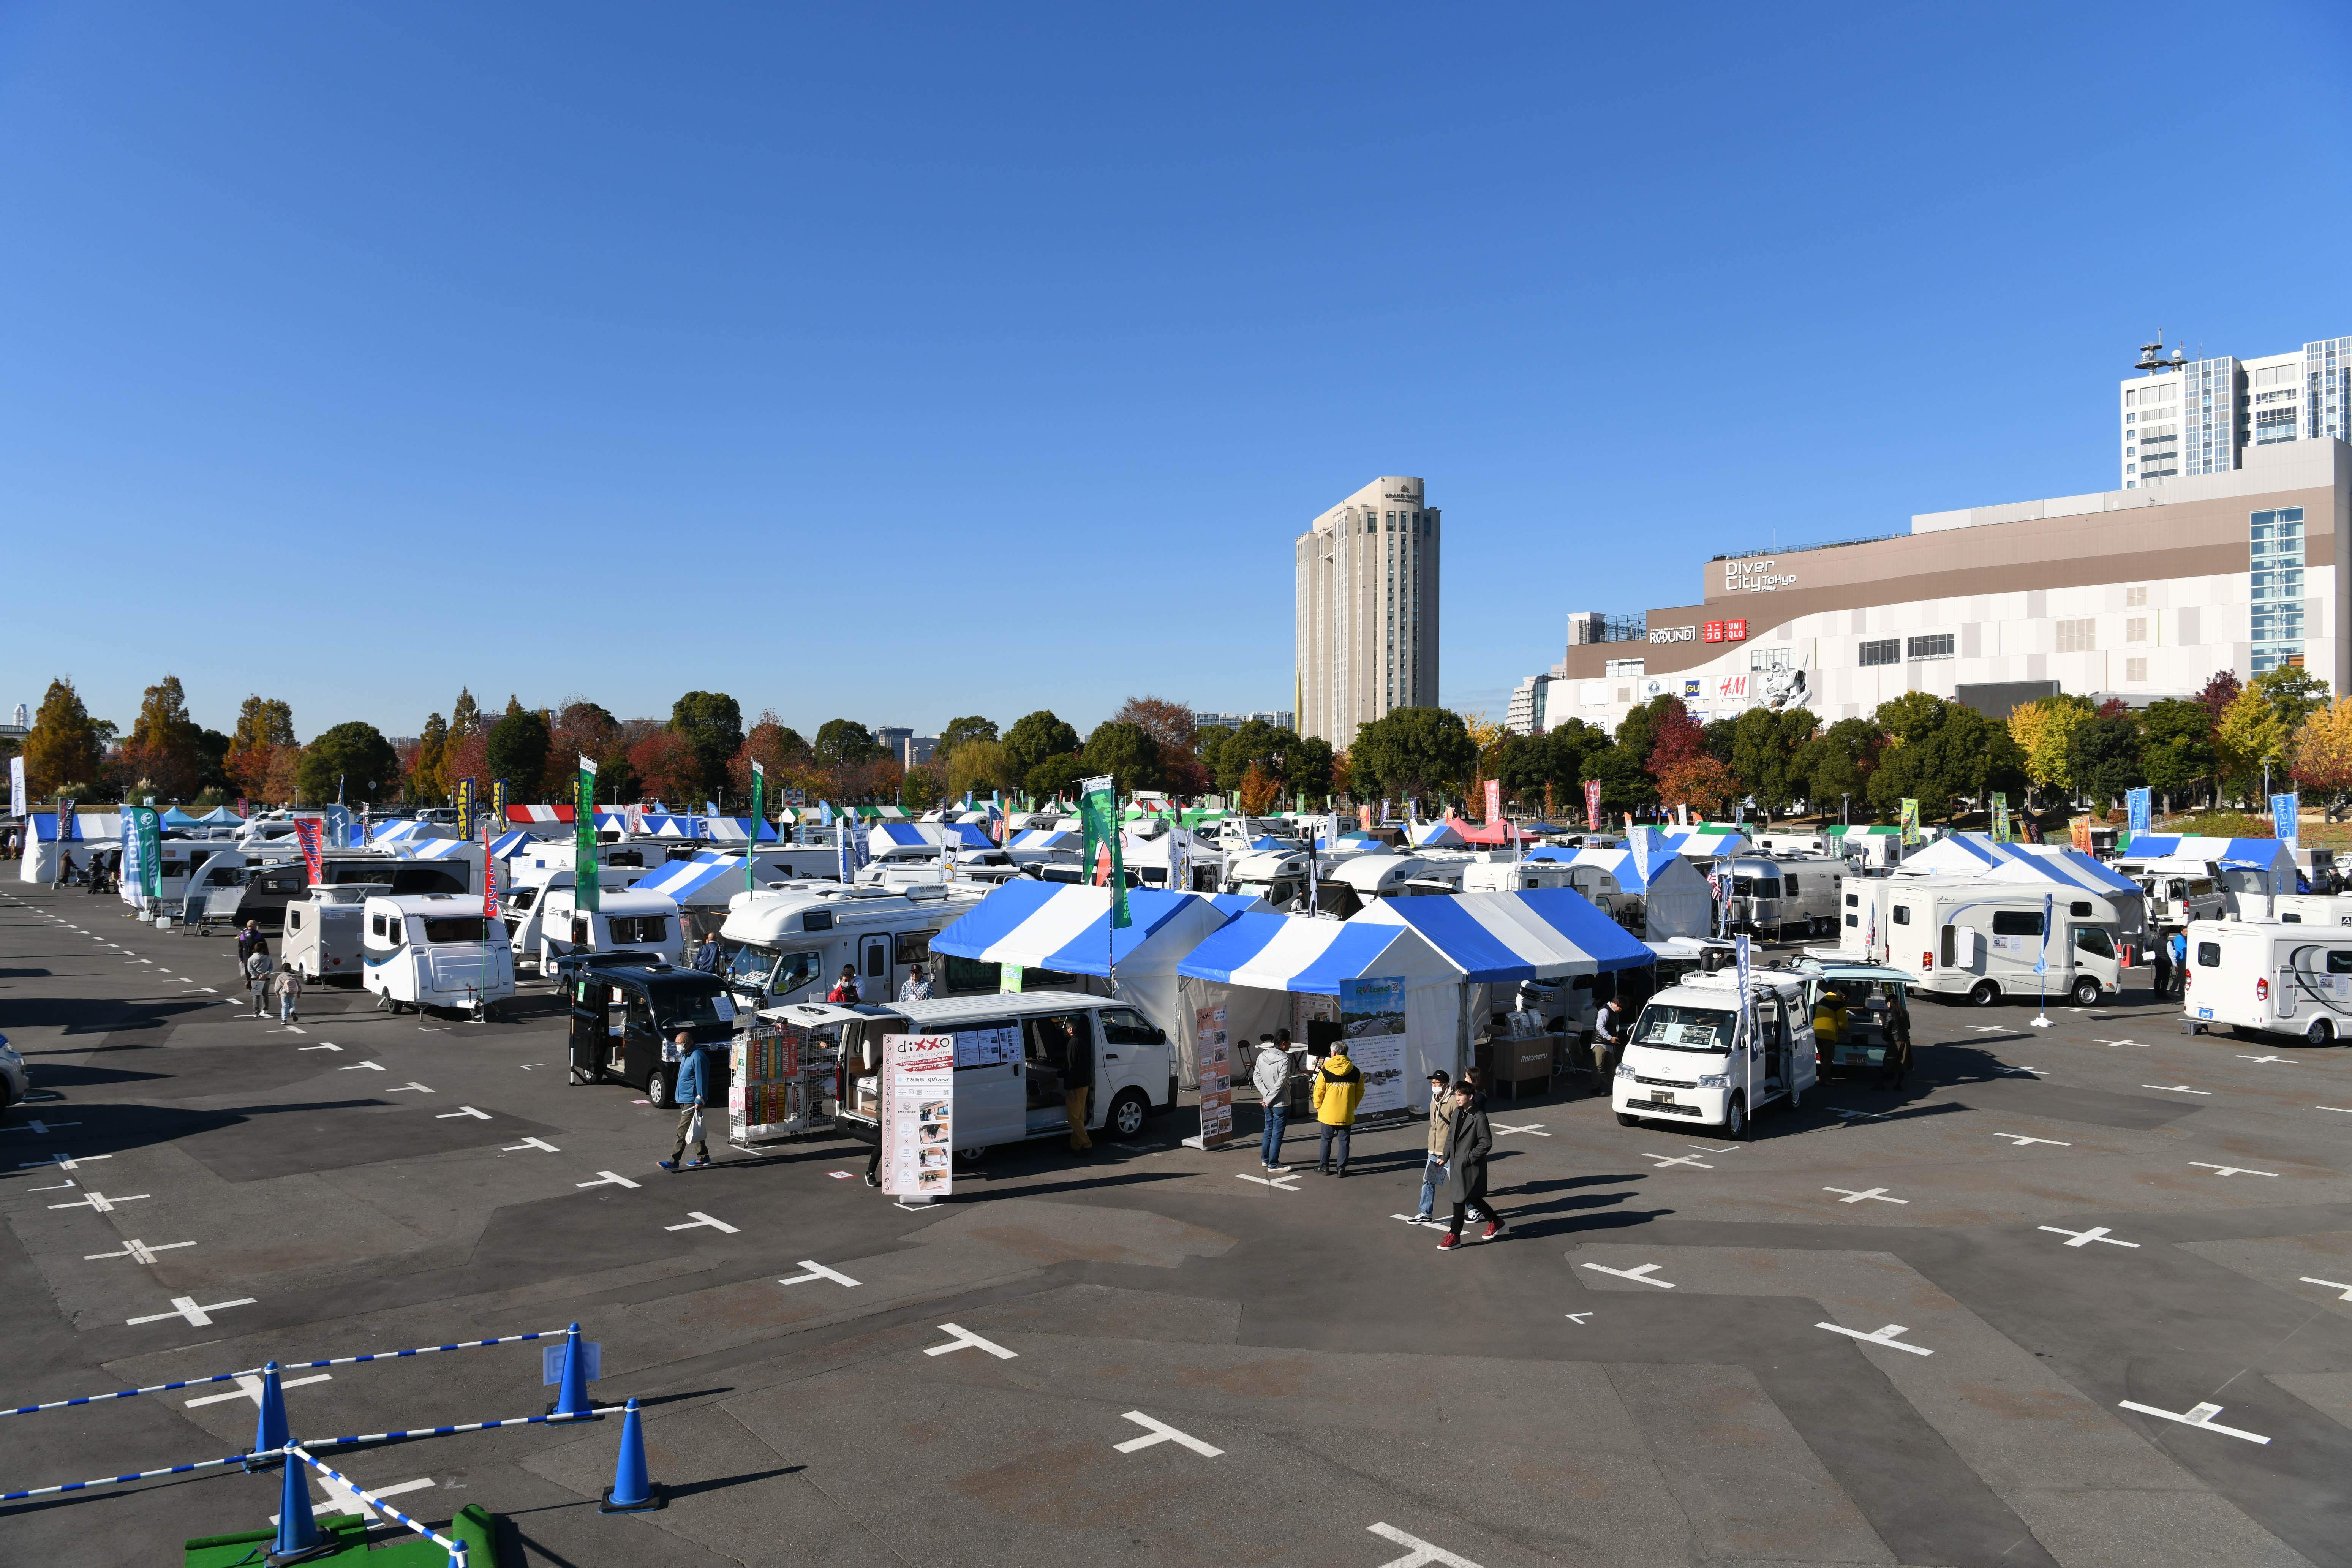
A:
[[[847,9],[0,9],[0,703],[1287,708],[1411,473],[1501,712],[2352,331],[2340,5]]]

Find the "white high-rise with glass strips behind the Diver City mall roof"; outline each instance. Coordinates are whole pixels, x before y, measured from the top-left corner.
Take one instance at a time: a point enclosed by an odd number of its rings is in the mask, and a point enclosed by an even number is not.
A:
[[[2244,468],[2246,447],[2352,440],[2352,339],[2319,339],[2263,360],[2140,355],[2117,383],[2124,489]],[[2180,353],[2178,348],[2173,350]]]

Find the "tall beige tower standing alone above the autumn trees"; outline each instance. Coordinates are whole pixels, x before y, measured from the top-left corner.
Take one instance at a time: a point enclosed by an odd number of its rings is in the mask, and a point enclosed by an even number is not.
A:
[[[1355,491],[1294,543],[1298,733],[1338,750],[1390,708],[1437,705],[1439,517],[1421,480]]]

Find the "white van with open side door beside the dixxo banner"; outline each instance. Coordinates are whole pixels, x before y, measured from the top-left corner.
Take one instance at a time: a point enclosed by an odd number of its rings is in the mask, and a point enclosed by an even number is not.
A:
[[[762,1009],[795,1023],[797,1009]],[[1155,1112],[1176,1107],[1176,1051],[1134,1006],[1075,992],[896,1001],[842,1027],[840,1128],[861,1143],[882,1135],[882,1037],[955,1034],[955,1157],[1070,1131],[1063,1072],[1070,1051],[1094,1058],[1087,1131],[1134,1138]]]

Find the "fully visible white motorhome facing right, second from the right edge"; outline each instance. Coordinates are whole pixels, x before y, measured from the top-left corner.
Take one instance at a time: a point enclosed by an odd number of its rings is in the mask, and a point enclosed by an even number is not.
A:
[[[1976,1006],[2042,994],[2096,1006],[2122,990],[2117,938],[2124,917],[2089,889],[2046,893],[1973,877],[1849,877],[1839,898],[1846,947],[1915,976],[1924,992],[1966,997]],[[2044,898],[2053,922],[2046,943]],[[1865,940],[1872,926],[1875,947]]]

